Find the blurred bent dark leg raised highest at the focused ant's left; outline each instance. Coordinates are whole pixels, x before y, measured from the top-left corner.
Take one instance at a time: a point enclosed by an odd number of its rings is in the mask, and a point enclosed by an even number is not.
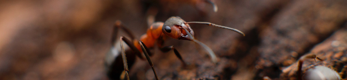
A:
[[[124,32],[130,37],[130,39],[132,39],[132,40],[135,39],[134,34],[130,31],[130,29],[126,28],[120,20],[116,21],[114,27],[117,29],[113,29],[113,30],[118,30],[118,28],[120,28],[120,29],[124,30]],[[113,31],[113,32],[116,32],[116,34],[117,34],[118,31]],[[115,33],[113,33],[113,34],[115,34]],[[117,35],[115,35],[115,36],[117,36]]]

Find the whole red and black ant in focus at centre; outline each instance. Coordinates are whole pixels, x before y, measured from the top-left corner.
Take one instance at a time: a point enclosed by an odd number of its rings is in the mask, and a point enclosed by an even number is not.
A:
[[[108,64],[110,66],[109,67],[110,70],[108,72],[109,77],[111,79],[119,79],[119,77],[117,77],[118,75],[121,75],[121,77],[124,77],[124,74],[125,74],[126,78],[129,80],[128,65],[130,67],[133,65],[133,62],[135,60],[135,58],[134,58],[135,55],[137,55],[140,59],[144,60],[144,58],[141,55],[141,52],[143,52],[147,61],[149,62],[149,64],[152,67],[152,70],[153,70],[154,75],[155,75],[155,79],[158,80],[158,77],[157,77],[155,70],[153,68],[153,63],[149,57],[152,55],[152,53],[149,51],[149,48],[153,48],[155,46],[154,45],[155,42],[157,42],[157,46],[162,47],[162,44],[163,44],[165,37],[166,37],[165,35],[167,35],[171,38],[175,38],[175,39],[183,39],[183,40],[193,41],[193,42],[201,45],[204,48],[204,50],[206,50],[209,53],[209,55],[212,59],[212,62],[217,63],[217,57],[214,54],[214,52],[211,50],[211,48],[209,48],[208,46],[206,46],[205,44],[203,44],[202,42],[200,42],[194,38],[193,29],[188,24],[206,24],[206,25],[210,25],[210,26],[214,26],[214,27],[218,27],[218,28],[232,30],[234,32],[237,32],[237,33],[245,36],[244,33],[242,33],[241,31],[239,31],[237,29],[234,29],[234,28],[215,25],[215,24],[212,24],[209,22],[186,22],[183,19],[181,19],[180,17],[170,17],[169,19],[167,19],[165,21],[165,23],[163,23],[163,22],[153,23],[149,27],[149,29],[147,29],[146,34],[141,36],[140,41],[130,41],[129,39],[125,38],[124,36],[121,36],[120,37],[120,48],[121,48],[121,55],[122,55],[121,57],[122,57],[122,64],[124,66],[124,70],[119,68],[119,64],[121,64],[120,56],[116,56],[117,60],[115,60],[112,64],[111,64],[111,62]],[[116,21],[116,24],[114,26],[114,32],[112,35],[112,44],[114,44],[114,42],[116,41],[115,37],[117,35],[117,31],[119,28],[125,30],[125,32],[130,36],[130,38],[132,40],[134,40],[134,36],[132,33],[130,33],[130,30],[125,28],[121,24],[120,21]],[[124,41],[131,48],[131,50],[134,51],[135,54],[128,54],[126,56],[122,41]],[[112,45],[112,46],[114,46],[114,45]],[[111,48],[111,53],[112,53],[112,48]],[[180,61],[183,63],[183,65],[186,65],[186,63],[182,59],[181,55],[179,54],[179,52],[176,50],[176,48],[174,46],[162,47],[162,48],[160,48],[160,50],[162,52],[168,52],[170,50],[174,50],[174,53],[180,59]],[[126,57],[130,57],[130,58],[127,59]],[[115,58],[115,57],[113,57],[113,58]],[[130,62],[130,64],[127,63],[127,60]],[[122,73],[122,74],[120,74],[120,73]],[[114,77],[114,75],[116,75],[116,77]],[[124,78],[122,78],[122,79],[124,79]]]

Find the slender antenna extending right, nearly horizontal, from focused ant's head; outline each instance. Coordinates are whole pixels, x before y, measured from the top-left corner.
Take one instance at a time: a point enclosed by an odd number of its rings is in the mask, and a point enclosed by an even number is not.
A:
[[[187,22],[187,23],[184,23],[184,24],[205,24],[205,25],[209,25],[209,26],[212,25],[214,27],[232,30],[232,31],[234,31],[234,32],[236,32],[238,34],[241,34],[241,35],[245,36],[245,34],[242,33],[240,30],[237,30],[237,29],[234,29],[234,28],[230,28],[230,27],[221,26],[221,25],[216,25],[216,24],[213,24],[213,23],[210,23],[210,22]]]

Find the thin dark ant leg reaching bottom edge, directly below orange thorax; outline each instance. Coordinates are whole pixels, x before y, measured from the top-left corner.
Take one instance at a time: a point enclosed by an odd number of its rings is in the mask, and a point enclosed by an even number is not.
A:
[[[149,64],[151,65],[151,67],[152,67],[152,70],[153,70],[153,72],[154,72],[155,79],[156,79],[156,80],[159,80],[159,79],[158,79],[158,76],[157,76],[156,73],[155,73],[155,70],[154,70],[154,67],[153,67],[153,63],[152,63],[152,61],[151,61],[151,59],[150,59],[150,56],[148,55],[148,53],[151,53],[151,52],[149,51],[149,49],[147,48],[147,46],[146,46],[145,44],[143,44],[142,41],[139,41],[138,44],[141,45],[141,49],[142,49],[142,51],[143,51],[143,54],[145,54],[148,63],[149,63]],[[147,51],[147,50],[148,50],[148,51]]]

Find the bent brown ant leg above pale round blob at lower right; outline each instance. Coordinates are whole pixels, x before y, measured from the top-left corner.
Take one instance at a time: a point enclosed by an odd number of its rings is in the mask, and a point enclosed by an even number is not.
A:
[[[299,59],[299,63],[298,63],[298,71],[297,71],[298,80],[301,80],[301,79],[302,79],[302,75],[301,75],[301,74],[302,74],[302,65],[303,65],[305,59],[314,59],[315,62],[316,62],[316,59],[318,59],[318,60],[320,60],[320,61],[323,61],[322,59],[320,59],[319,57],[317,57],[317,56],[314,55],[314,54],[302,56],[302,57]]]

